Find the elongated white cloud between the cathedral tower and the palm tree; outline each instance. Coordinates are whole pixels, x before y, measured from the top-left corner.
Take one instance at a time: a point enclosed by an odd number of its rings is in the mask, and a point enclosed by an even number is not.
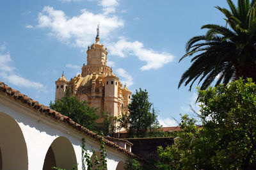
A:
[[[124,58],[127,55],[137,56],[140,61],[145,61],[147,64],[141,67],[141,70],[150,70],[161,68],[173,61],[174,56],[167,52],[156,52],[151,49],[145,49],[141,42],[127,42],[119,40],[115,44],[109,46],[110,54]]]

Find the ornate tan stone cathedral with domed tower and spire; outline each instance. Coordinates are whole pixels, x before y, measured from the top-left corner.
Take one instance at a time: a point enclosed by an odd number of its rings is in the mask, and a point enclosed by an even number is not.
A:
[[[131,91],[119,81],[119,78],[107,66],[107,48],[100,43],[99,27],[95,43],[88,46],[87,65],[83,64],[82,73],[67,81],[64,73],[55,82],[55,102],[64,97],[69,87],[72,96],[80,101],[88,101],[91,107],[104,109],[111,116],[120,116],[127,111],[127,105],[131,102]]]

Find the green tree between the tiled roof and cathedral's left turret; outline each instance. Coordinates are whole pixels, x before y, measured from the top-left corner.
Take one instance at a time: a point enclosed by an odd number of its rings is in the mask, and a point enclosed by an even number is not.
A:
[[[50,103],[50,108],[68,116],[76,123],[90,130],[94,129],[95,120],[99,118],[97,109],[90,107],[86,101],[80,102],[76,97],[72,97],[69,88],[65,93],[65,97],[55,103]]]

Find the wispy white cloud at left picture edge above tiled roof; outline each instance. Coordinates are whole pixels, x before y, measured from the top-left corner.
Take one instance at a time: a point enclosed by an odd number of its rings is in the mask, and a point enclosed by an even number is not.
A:
[[[6,50],[6,47],[4,50]],[[29,81],[28,79],[17,75],[14,72],[16,68],[12,66],[10,62],[12,62],[10,52],[6,52],[6,54],[0,54],[0,77],[2,77],[4,81],[15,84],[16,86],[22,86],[26,88],[42,89],[44,87],[40,82]]]

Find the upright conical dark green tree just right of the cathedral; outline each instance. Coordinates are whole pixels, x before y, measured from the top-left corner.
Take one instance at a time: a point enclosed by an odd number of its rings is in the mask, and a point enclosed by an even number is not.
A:
[[[125,112],[118,119],[120,127],[127,129],[129,137],[146,137],[159,128],[156,111],[151,107],[147,90],[136,90],[132,95],[131,104],[128,105],[129,113]]]

